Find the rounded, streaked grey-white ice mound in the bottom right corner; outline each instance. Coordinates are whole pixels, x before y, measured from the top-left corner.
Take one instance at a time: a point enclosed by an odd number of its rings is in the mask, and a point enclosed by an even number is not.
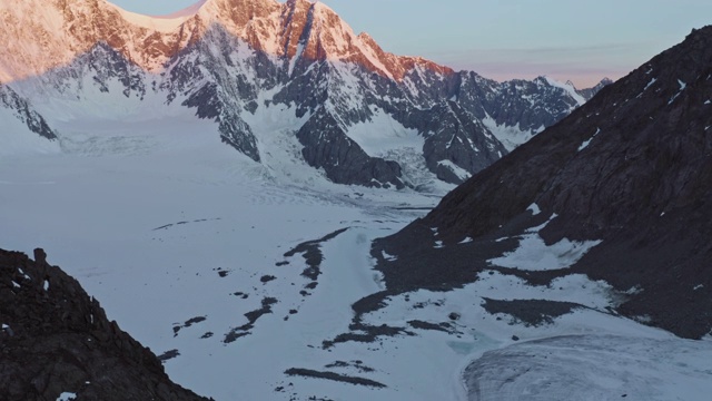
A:
[[[709,342],[566,335],[510,345],[467,368],[471,400],[703,400]]]

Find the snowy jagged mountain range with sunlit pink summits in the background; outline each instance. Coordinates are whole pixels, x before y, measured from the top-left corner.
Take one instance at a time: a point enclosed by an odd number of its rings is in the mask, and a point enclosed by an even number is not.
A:
[[[0,81],[75,151],[127,140],[96,127],[155,130],[195,115],[214,123],[191,121],[199,135],[219,134],[273,170],[306,163],[335,183],[428,187],[462,182],[597,90],[395,56],[307,0],[206,0],[167,17],[103,0],[2,0],[0,10]]]

